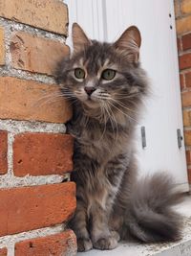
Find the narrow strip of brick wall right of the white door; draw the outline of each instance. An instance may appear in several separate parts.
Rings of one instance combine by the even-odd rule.
[[[191,184],[191,0],[175,0],[184,139]]]

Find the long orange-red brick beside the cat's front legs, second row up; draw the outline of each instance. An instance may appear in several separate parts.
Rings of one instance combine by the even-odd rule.
[[[61,184],[0,190],[0,236],[68,221],[75,209],[75,185]]]

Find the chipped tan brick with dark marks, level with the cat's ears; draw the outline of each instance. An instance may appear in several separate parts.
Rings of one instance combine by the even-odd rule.
[[[52,39],[18,32],[11,38],[11,65],[16,69],[53,75],[57,62],[69,55],[69,47]]]

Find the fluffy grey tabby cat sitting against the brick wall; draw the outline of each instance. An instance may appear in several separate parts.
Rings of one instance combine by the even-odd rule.
[[[137,178],[135,131],[149,92],[138,28],[101,43],[74,23],[73,43],[56,79],[74,106],[67,131],[74,136],[76,211],[70,227],[78,251],[113,249],[130,237],[143,243],[179,240],[181,217],[172,206],[180,193],[171,177]]]

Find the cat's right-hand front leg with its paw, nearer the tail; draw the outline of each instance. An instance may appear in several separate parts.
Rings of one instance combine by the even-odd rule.
[[[91,238],[93,246],[98,249],[113,249],[117,247],[119,235],[111,231],[109,220],[113,211],[114,202],[125,172],[126,157],[120,155],[110,161],[105,167],[103,176],[103,187],[97,187],[95,193],[94,207],[92,208],[92,230]]]

